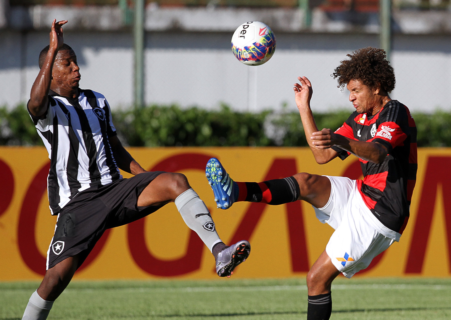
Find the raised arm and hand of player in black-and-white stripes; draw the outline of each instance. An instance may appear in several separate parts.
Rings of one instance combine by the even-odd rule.
[[[50,48],[42,64],[40,59],[41,70],[31,88],[28,110],[37,117],[45,114],[48,108],[47,95],[49,94],[52,80],[52,68],[56,54],[64,43],[62,26],[65,23],[67,23],[67,20],[58,22],[56,22],[56,19],[53,20],[50,32]]]

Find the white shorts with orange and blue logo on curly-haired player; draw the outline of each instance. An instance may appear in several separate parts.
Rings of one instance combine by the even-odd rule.
[[[319,221],[335,229],[326,246],[327,255],[337,270],[351,278],[401,235],[384,226],[368,209],[356,180],[325,177],[331,181],[331,196],[326,206],[313,208]]]

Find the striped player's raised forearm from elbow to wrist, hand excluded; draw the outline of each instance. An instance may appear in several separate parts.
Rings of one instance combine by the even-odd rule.
[[[41,116],[47,110],[48,94],[52,80],[52,68],[56,54],[57,50],[49,49],[44,64],[31,88],[28,109],[35,116]]]

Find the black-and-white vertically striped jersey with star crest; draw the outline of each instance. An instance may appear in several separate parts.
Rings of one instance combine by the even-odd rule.
[[[78,192],[122,178],[110,148],[109,137],[116,135],[110,106],[100,93],[82,89],[78,93],[71,99],[51,91],[46,114],[30,114],[49,153],[52,215]]]

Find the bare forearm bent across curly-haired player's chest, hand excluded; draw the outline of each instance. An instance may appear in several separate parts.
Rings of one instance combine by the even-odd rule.
[[[360,159],[379,164],[387,156],[387,148],[380,143],[357,141],[340,135],[336,136],[338,138],[336,142],[334,141],[336,146],[358,156]]]

